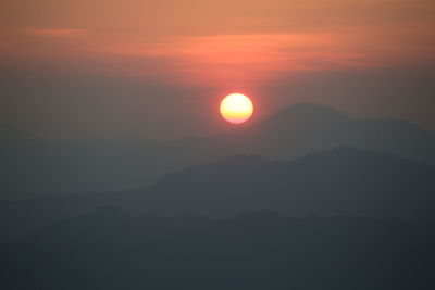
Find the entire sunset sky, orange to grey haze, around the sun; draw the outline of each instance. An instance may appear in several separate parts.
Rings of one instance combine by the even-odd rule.
[[[174,139],[309,101],[435,128],[433,0],[9,0],[0,122],[47,138]]]

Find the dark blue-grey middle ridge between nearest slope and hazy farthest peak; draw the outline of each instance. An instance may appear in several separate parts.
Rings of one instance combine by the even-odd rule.
[[[235,155],[167,175],[144,190],[0,203],[2,240],[99,206],[133,215],[228,217],[273,211],[294,217],[356,215],[434,220],[435,168],[352,148],[289,161]]]

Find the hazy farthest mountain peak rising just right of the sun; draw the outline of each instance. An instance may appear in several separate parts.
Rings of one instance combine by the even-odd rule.
[[[286,106],[215,142],[228,142],[236,153],[290,160],[312,151],[356,147],[435,164],[435,134],[402,121],[358,119],[328,106]]]

